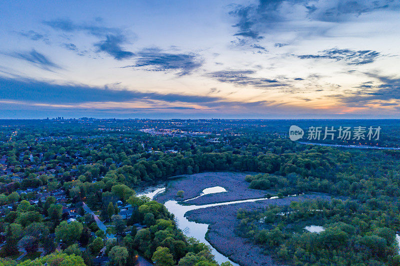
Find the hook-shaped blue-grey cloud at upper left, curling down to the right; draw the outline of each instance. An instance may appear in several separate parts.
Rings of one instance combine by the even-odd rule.
[[[94,44],[98,52],[105,52],[116,60],[130,58],[133,52],[124,50],[121,45],[127,42],[125,33],[120,28],[97,26],[93,24],[77,24],[69,19],[43,21],[43,24],[64,32],[83,31],[101,40]]]

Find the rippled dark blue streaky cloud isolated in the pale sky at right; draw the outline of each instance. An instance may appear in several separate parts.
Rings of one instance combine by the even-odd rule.
[[[372,50],[350,50],[350,49],[329,49],[319,51],[318,54],[304,54],[298,55],[300,59],[312,59],[312,58],[326,58],[333,59],[336,61],[344,61],[348,65],[362,65],[372,63],[380,53]]]

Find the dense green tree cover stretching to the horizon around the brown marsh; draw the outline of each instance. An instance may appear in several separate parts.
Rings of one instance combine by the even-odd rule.
[[[237,234],[278,262],[400,265],[394,240],[400,231],[400,151],[303,145],[287,140],[277,126],[254,130],[253,122],[229,128],[210,122],[212,130],[201,122],[208,133],[179,136],[137,131],[174,121],[43,123],[1,127],[0,265],[59,260],[90,266],[99,254],[118,266],[137,256],[160,266],[217,265],[207,246],[177,229],[162,204],[135,196],[140,186],[205,171],[258,172],[246,176],[249,188],[279,197],[334,198],[237,214]],[[185,130],[193,127],[188,123]],[[106,232],[83,202],[109,226]],[[308,225],[325,230],[305,232]]]

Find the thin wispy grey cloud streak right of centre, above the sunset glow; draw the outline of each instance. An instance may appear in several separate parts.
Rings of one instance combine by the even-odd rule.
[[[222,70],[208,73],[207,76],[215,78],[220,82],[233,83],[241,86],[253,86],[256,88],[270,88],[286,86],[277,79],[251,77],[249,75],[255,74],[253,70]]]

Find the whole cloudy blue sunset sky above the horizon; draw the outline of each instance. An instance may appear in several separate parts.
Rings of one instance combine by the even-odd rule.
[[[0,119],[399,118],[400,0],[0,1]]]

